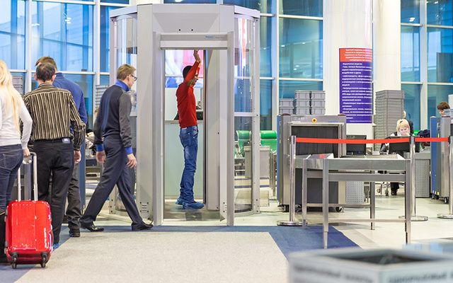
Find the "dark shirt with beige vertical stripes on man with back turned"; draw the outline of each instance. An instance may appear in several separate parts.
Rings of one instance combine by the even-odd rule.
[[[85,124],[80,120],[69,91],[42,83],[35,91],[27,93],[23,101],[33,118],[33,141],[74,138],[74,150],[80,150],[85,138]]]

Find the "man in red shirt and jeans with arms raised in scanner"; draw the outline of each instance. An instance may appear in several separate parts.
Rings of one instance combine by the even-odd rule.
[[[201,202],[195,202],[193,198],[193,180],[197,169],[198,151],[197,111],[193,86],[197,82],[197,72],[201,62],[198,50],[193,50],[193,57],[195,57],[195,63],[183,69],[184,81],[176,90],[179,138],[184,148],[184,170],[180,183],[180,196],[176,204],[182,205],[184,209],[201,209],[205,206]]]

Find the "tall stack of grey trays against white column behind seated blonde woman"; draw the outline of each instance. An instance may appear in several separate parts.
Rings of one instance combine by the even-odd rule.
[[[377,139],[384,139],[396,132],[396,122],[403,117],[404,91],[377,91],[375,107],[374,136]]]

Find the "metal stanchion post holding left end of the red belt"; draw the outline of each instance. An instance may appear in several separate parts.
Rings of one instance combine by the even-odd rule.
[[[278,226],[302,226],[296,221],[296,136],[289,139],[289,221],[277,221]]]

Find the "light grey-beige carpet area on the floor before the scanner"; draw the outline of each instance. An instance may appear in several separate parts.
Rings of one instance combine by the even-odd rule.
[[[287,260],[269,233],[83,233],[45,270],[29,268],[0,269],[0,281],[287,282]]]

